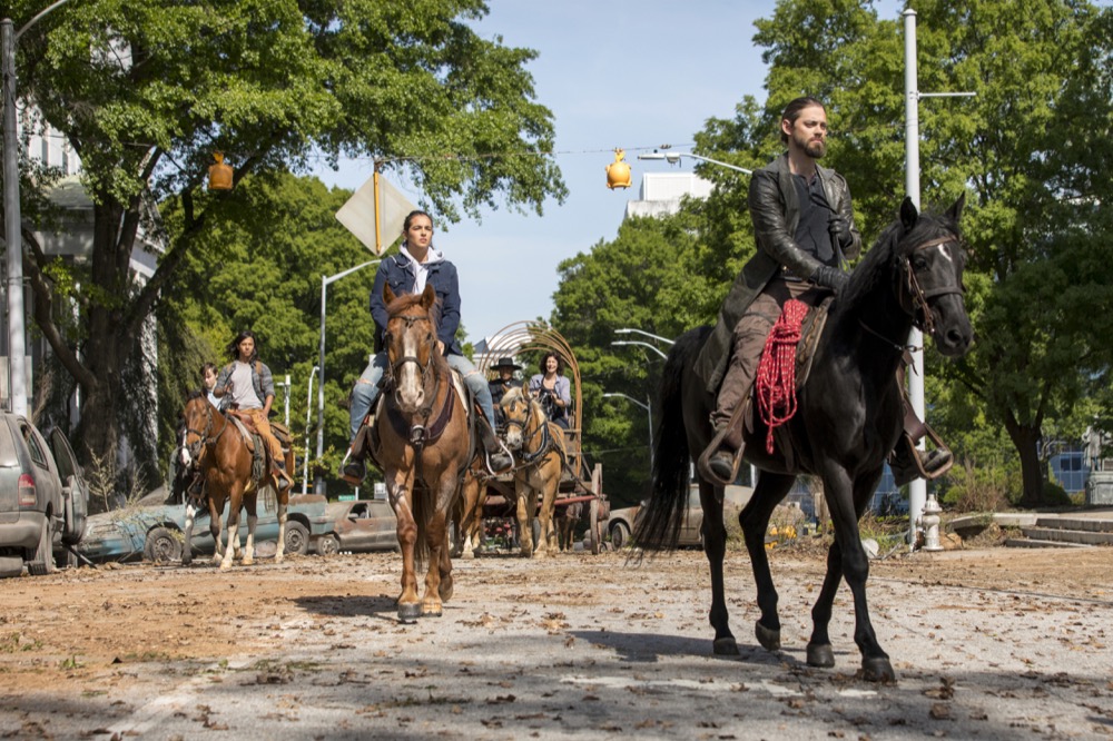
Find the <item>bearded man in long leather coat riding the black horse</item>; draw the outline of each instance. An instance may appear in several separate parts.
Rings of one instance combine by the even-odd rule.
[[[841,292],[849,280],[846,260],[861,251],[846,179],[818,164],[827,152],[824,105],[808,97],[788,103],[780,117],[780,139],[788,151],[750,180],[757,250],[735,279],[696,359],[707,391],[718,393],[711,414],[716,434],[699,458],[699,470],[723,485],[737,475],[741,425],[758,360],[785,303],[795,298],[815,307],[831,292]],[[914,477],[912,454],[909,446],[897,445],[892,465],[898,484]],[[943,457],[933,451],[923,462],[925,470],[939,468],[946,463]]]

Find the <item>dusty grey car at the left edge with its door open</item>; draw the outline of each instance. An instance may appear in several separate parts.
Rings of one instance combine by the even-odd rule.
[[[48,442],[49,441],[49,442]],[[89,491],[60,429],[43,436],[24,417],[0,412],[0,576],[50,573],[76,562]]]

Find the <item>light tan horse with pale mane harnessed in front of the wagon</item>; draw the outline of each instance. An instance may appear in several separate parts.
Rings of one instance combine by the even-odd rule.
[[[541,404],[522,388],[511,388],[499,402],[505,419],[503,441],[514,454],[514,496],[518,500],[518,536],[523,556],[556,552],[553,502],[568,454],[564,431],[549,421]],[[541,536],[533,544],[533,513],[541,501]]]

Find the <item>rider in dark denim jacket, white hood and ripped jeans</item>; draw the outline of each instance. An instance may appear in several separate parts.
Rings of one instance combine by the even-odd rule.
[[[375,286],[371,292],[371,314],[375,319],[375,356],[361,374],[352,389],[352,406],[349,423],[352,442],[355,442],[361,426],[367,415],[375,408],[378,401],[380,382],[386,370],[386,350],[383,349],[383,334],[390,315],[383,303],[383,287],[391,286],[396,296],[420,294],[425,286],[431,285],[436,290],[436,337],[437,347],[444,353],[445,360],[463,377],[471,389],[485,419],[479,419],[480,441],[487,453],[492,470],[509,468],[512,461],[502,449],[494,435],[494,404],[491,401],[491,389],[486,379],[464,356],[464,350],[456,339],[460,328],[460,286],[456,277],[456,266],[444,259],[439,249],[433,248],[433,219],[425,211],[411,211],[402,225],[402,247],[398,254],[387,257],[378,264],[375,275]],[[362,446],[354,446],[351,457],[344,465],[343,477],[349,484],[357,486],[366,475]]]

